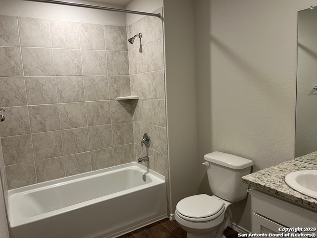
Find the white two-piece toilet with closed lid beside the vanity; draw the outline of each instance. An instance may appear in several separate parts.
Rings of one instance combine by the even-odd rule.
[[[175,220],[187,232],[187,238],[221,238],[230,219],[226,209],[247,195],[248,184],[241,177],[250,174],[252,160],[217,151],[204,159],[214,195],[186,197],[176,205]]]

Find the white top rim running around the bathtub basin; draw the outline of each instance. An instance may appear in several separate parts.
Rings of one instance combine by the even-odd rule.
[[[110,173],[115,173],[115,172],[119,172],[122,170],[133,169],[133,168],[134,169],[137,168],[137,170],[141,171],[141,173],[146,173],[146,175],[152,179],[152,182],[142,184],[142,185],[139,185],[136,187],[128,188],[128,189],[125,189],[125,190],[122,190],[119,192],[115,192],[112,194],[108,194],[108,195],[105,195],[102,197],[94,198],[94,199],[84,201],[81,203],[73,204],[73,205],[70,205],[67,207],[59,208],[59,209],[56,209],[56,210],[53,210],[53,211],[50,211],[47,213],[39,214],[39,215],[36,215],[33,217],[23,217],[19,214],[19,212],[17,211],[16,208],[15,208],[15,211],[13,211],[11,208],[11,197],[18,198],[19,196],[22,196],[23,194],[28,194],[32,191],[42,190],[43,188],[49,189],[49,188],[53,188],[53,187],[60,186],[63,184],[84,180],[85,178],[88,178],[88,177],[93,178],[93,177],[102,176],[103,174],[107,174],[107,173],[110,174]],[[138,164],[137,162],[130,162],[127,164],[117,165],[117,166],[113,166],[113,167],[109,167],[109,168],[105,168],[105,169],[101,169],[101,170],[97,170],[97,171],[90,171],[90,172],[79,174],[79,175],[64,177],[64,178],[60,178],[60,179],[54,179],[54,180],[50,180],[50,181],[31,184],[31,185],[24,186],[24,187],[10,189],[8,191],[8,207],[9,207],[8,223],[9,223],[9,227],[14,228],[14,227],[18,227],[21,225],[26,225],[26,224],[29,224],[32,222],[46,219],[46,218],[51,217],[53,215],[58,215],[58,214],[70,212],[70,211],[73,211],[75,209],[79,209],[79,208],[82,208],[82,207],[85,207],[88,205],[93,205],[93,204],[102,202],[106,199],[113,199],[117,196],[124,195],[124,194],[129,193],[129,192],[140,191],[142,189],[146,189],[147,187],[159,185],[162,183],[165,183],[164,176],[160,175],[159,173],[157,173],[151,169],[148,169],[147,167],[145,167],[143,165]],[[14,222],[12,221],[12,217],[13,217],[12,215],[16,216],[16,218],[14,219]]]

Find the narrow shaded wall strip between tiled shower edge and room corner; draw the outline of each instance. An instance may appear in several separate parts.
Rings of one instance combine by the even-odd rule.
[[[192,0],[164,0],[171,213],[197,194],[195,25]]]

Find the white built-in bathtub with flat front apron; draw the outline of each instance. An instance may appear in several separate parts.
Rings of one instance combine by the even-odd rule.
[[[132,162],[9,190],[12,238],[112,238],[159,221],[165,178],[148,172]]]

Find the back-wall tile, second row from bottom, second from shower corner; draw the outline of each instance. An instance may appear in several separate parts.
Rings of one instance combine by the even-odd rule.
[[[111,124],[89,126],[88,134],[91,150],[113,146]]]

